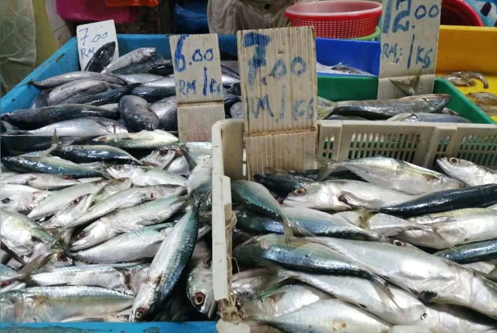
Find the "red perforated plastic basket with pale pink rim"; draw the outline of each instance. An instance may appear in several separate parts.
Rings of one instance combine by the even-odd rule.
[[[382,4],[365,0],[297,3],[285,10],[292,26],[311,25],[316,37],[357,38],[375,32]]]

